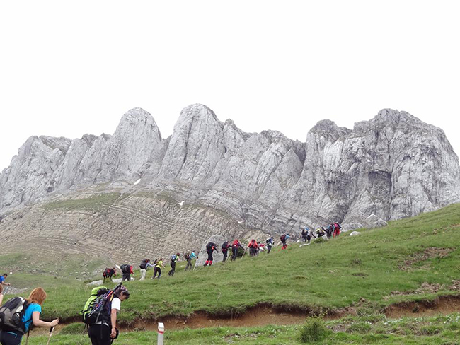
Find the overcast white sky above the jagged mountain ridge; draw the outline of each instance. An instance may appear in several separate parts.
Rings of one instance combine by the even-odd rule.
[[[0,171],[31,135],[161,134],[203,103],[243,131],[305,141],[382,108],[460,153],[459,1],[1,1]]]

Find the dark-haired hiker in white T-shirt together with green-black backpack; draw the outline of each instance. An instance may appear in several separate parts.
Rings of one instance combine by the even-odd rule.
[[[130,292],[121,283],[111,291],[105,286],[93,288],[83,312],[92,345],[110,345],[118,337],[117,315],[128,298]]]

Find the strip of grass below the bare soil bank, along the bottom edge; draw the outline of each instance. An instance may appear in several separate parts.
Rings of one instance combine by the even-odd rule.
[[[326,339],[314,344],[459,344],[460,315],[403,318],[387,320],[384,315],[367,317],[347,317],[342,320],[326,322]],[[72,327],[75,328],[75,327]],[[165,333],[168,345],[204,345],[204,344],[255,344],[280,345],[301,344],[299,341],[301,326],[265,326],[253,328],[219,327],[212,329],[186,329]],[[62,332],[64,333],[64,332]],[[31,345],[45,344],[47,337],[33,337]],[[86,335],[53,336],[52,344],[88,344]],[[114,344],[146,345],[156,344],[156,332],[123,332]]]

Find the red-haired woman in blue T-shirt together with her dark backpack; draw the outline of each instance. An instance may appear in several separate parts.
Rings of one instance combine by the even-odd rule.
[[[45,290],[34,288],[28,298],[11,298],[0,308],[1,345],[21,344],[23,335],[29,332],[32,325],[35,327],[55,327],[59,323],[59,319],[52,320],[52,322],[40,320],[42,304],[45,299]],[[20,318],[17,319],[13,315],[19,315]]]

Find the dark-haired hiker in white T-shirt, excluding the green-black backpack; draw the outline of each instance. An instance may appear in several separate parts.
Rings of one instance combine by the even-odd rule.
[[[92,345],[110,345],[113,339],[118,337],[117,314],[120,312],[122,301],[130,298],[130,292],[125,286],[120,286],[115,288],[113,296],[115,297],[109,302],[110,315],[101,313],[106,316],[88,327],[88,337]]]

